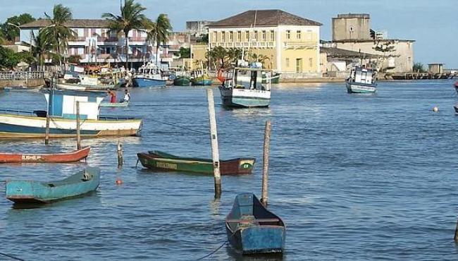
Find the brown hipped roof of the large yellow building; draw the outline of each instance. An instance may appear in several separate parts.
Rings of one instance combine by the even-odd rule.
[[[230,18],[225,18],[211,24],[210,28],[221,27],[250,27],[250,26],[278,26],[278,25],[313,25],[321,26],[314,20],[295,16],[291,13],[274,10],[249,10]]]

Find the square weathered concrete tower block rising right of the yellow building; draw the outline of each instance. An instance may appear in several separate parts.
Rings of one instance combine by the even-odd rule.
[[[345,14],[333,18],[333,41],[369,40],[371,20],[365,14]]]

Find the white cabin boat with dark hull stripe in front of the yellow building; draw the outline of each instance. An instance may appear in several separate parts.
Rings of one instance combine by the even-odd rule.
[[[266,73],[266,83],[262,74]],[[225,107],[268,107],[271,103],[271,71],[261,68],[233,68],[219,86]],[[220,76],[218,76],[221,78]]]

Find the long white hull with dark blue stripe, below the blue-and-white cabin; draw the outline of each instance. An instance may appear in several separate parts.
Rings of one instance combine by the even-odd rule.
[[[142,119],[100,117],[99,120],[85,120],[80,125],[83,138],[101,136],[140,135]],[[0,114],[0,139],[44,138],[46,117]],[[49,121],[50,138],[76,137],[74,119],[52,118]]]

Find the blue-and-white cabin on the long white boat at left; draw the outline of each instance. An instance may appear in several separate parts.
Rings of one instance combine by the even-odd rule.
[[[80,102],[80,119],[97,120],[99,105],[105,96],[106,92],[44,91],[49,115],[63,119],[76,119],[76,102]]]

